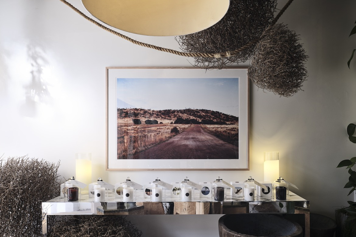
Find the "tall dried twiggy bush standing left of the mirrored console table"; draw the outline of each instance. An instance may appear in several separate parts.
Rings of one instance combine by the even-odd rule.
[[[57,164],[0,157],[0,236],[42,236],[42,201],[59,196]]]

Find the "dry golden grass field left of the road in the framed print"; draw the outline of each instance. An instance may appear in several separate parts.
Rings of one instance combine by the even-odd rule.
[[[127,159],[128,156],[147,150],[175,136],[171,129],[177,127],[181,133],[189,128],[188,124],[171,124],[172,120],[160,119],[162,124],[133,124],[131,118],[117,119],[117,159]]]

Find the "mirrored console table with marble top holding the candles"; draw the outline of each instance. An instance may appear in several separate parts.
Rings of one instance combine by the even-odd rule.
[[[197,191],[197,190],[196,190]],[[170,195],[170,194],[169,194]],[[179,198],[166,196],[162,202],[152,202],[143,198],[143,190],[137,190],[137,199],[134,202],[122,202],[115,198],[114,193],[109,193],[108,200],[94,202],[88,198],[88,192],[82,193],[79,201],[66,202],[57,197],[42,203],[42,230],[47,236],[47,215],[155,215],[155,214],[304,214],[305,236],[310,236],[309,201],[289,192],[285,201],[273,198],[255,196],[254,201],[246,201],[242,197],[232,199],[230,190],[227,190],[226,201],[214,201],[199,198],[195,192],[193,201],[180,201]]]

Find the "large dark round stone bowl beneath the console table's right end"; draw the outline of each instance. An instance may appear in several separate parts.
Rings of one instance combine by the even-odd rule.
[[[303,228],[277,215],[237,214],[219,219],[220,237],[303,237]]]

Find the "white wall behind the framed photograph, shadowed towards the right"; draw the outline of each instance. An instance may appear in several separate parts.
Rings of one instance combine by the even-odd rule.
[[[79,1],[71,1],[83,10]],[[280,8],[286,0],[279,1]],[[88,22],[59,0],[0,1],[0,154],[61,161],[59,173],[74,173],[77,152],[91,152],[93,179],[138,183],[263,178],[263,151],[279,151],[284,178],[310,200],[311,210],[333,216],[347,205],[347,172],[336,169],[355,156],[346,126],[356,122],[355,68],[346,62],[355,47],[356,3],[351,0],[294,1],[279,22],[300,34],[309,55],[303,90],[280,98],[251,86],[250,171],[105,171],[105,67],[190,66],[192,59],[133,45]],[[83,10],[84,11],[84,10]],[[134,39],[178,49],[173,37]],[[248,65],[246,62],[243,65]],[[47,90],[40,92],[45,86]],[[38,94],[31,95],[31,90]],[[294,190],[295,191],[295,190]],[[143,236],[167,221],[162,236],[217,236],[216,216],[130,217]],[[163,219],[164,218],[164,219]],[[196,228],[194,225],[197,225]],[[202,233],[200,230],[206,230]]]

